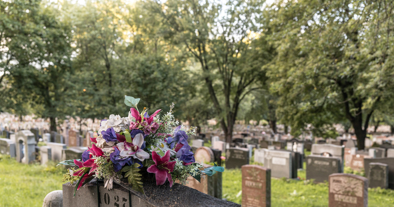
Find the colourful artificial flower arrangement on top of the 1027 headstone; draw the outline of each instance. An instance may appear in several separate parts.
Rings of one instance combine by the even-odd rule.
[[[126,177],[134,190],[144,193],[140,170],[154,173],[156,185],[163,185],[168,180],[170,187],[174,180],[186,184],[189,176],[200,181],[205,175],[224,171],[216,164],[204,169],[203,165],[195,163],[188,144],[195,127],[185,130],[178,126],[172,111],[174,104],[161,117],[158,115],[161,110],[149,116],[145,107],[139,112],[139,100],[125,96],[125,104],[131,107],[128,117],[112,114],[109,119],[101,121],[98,136],[90,138],[92,147],[82,153],[82,161],[74,159],[59,163],[75,166],[63,175],[63,182],[76,183],[74,196],[94,177],[104,179],[104,187],[108,190],[112,189],[114,181]]]

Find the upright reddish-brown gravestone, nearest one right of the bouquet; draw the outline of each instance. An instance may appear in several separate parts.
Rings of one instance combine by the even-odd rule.
[[[259,165],[242,166],[242,206],[271,206],[271,170]]]

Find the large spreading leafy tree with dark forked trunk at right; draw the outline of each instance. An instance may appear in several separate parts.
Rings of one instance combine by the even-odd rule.
[[[373,112],[393,95],[393,6],[384,0],[279,1],[265,24],[278,55],[269,76],[292,129],[348,119],[364,149]]]

